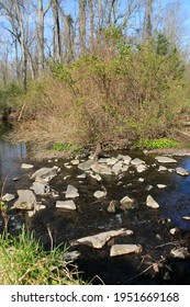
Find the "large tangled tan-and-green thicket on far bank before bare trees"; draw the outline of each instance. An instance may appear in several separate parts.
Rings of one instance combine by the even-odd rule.
[[[137,45],[105,30],[93,54],[49,64],[52,73],[20,98],[14,140],[67,150],[167,137],[187,107],[189,82],[178,50],[161,35]]]

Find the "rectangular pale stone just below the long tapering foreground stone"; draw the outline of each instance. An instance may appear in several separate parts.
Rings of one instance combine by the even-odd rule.
[[[113,245],[110,250],[111,257],[128,254],[128,253],[141,253],[143,250],[142,246],[138,245]]]

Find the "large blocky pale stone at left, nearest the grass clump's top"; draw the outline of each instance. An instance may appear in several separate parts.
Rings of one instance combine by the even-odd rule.
[[[13,204],[12,208],[32,211],[36,205],[36,198],[30,190],[18,190],[19,198]]]

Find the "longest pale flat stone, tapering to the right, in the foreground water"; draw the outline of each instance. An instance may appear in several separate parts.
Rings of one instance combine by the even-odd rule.
[[[111,238],[118,237],[121,235],[127,235],[127,230],[122,228],[119,230],[110,230],[105,232],[100,232],[94,236],[85,237],[77,240],[77,243],[86,245],[94,249],[101,249]]]

